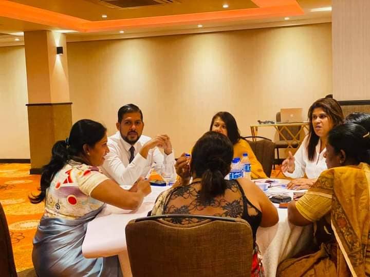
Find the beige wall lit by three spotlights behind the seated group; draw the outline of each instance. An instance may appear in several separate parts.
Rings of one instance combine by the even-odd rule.
[[[331,24],[69,43],[73,121],[92,118],[115,132],[116,113],[136,103],[144,134],[168,133],[187,151],[211,117],[230,111],[243,135],[280,108],[332,91]],[[273,137],[270,127],[260,134]]]

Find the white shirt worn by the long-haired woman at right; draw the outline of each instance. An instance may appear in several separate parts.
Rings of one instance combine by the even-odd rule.
[[[293,173],[289,173],[288,171],[283,172],[285,176],[290,178],[302,178],[306,173],[308,179],[317,179],[321,172],[327,169],[324,157],[326,148],[324,148],[320,153],[321,141],[319,140],[319,143],[316,145],[316,153],[313,161],[308,160],[307,146],[308,135],[306,135],[301,146],[294,154],[295,168]]]

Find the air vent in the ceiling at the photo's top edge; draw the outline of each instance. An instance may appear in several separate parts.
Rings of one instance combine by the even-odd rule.
[[[150,7],[155,5],[179,3],[178,0],[90,0],[90,2],[98,3],[109,8],[140,8]]]

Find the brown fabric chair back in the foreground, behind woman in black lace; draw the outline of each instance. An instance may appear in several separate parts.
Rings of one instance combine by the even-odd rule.
[[[188,225],[163,219],[204,219]],[[126,226],[134,277],[250,276],[251,227],[245,220],[191,214],[142,217]]]

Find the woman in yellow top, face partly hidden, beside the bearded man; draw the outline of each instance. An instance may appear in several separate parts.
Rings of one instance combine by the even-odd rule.
[[[241,136],[237,127],[236,120],[229,112],[217,112],[212,117],[210,131],[215,131],[226,135],[234,148],[234,158],[239,157],[242,159],[243,153],[248,153],[249,162],[251,163],[251,178],[267,178],[262,165],[258,162],[253,153],[252,148],[246,140]]]

